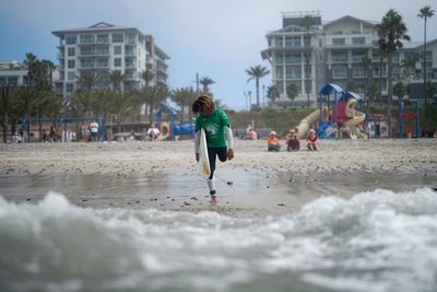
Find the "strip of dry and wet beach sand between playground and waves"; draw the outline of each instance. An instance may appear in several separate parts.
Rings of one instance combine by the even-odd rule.
[[[0,145],[0,195],[16,202],[36,202],[52,190],[82,207],[269,214],[321,196],[436,182],[437,139],[322,141],[319,152],[292,153],[237,140],[235,159],[217,164],[220,202],[212,207],[191,141]]]

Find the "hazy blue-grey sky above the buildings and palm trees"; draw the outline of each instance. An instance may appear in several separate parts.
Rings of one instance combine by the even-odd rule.
[[[245,70],[257,65],[270,70],[260,51],[267,48],[267,32],[281,28],[281,12],[320,11],[323,21],[352,15],[379,22],[393,8],[412,40],[421,42],[423,20],[417,13],[425,5],[437,12],[436,0],[0,0],[0,59],[22,61],[34,52],[58,63],[52,31],[98,22],[138,27],[155,36],[170,56],[173,89],[194,86],[198,72],[216,82],[211,86],[216,98],[243,109],[243,92],[255,92]],[[437,38],[437,15],[427,27],[427,39]],[[270,74],[261,81],[270,83]]]

